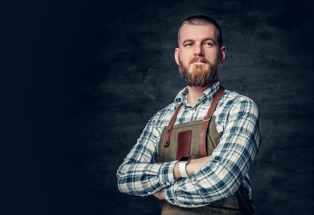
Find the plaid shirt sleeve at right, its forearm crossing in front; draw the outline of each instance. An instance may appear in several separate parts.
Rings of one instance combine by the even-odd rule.
[[[260,116],[250,98],[234,102],[220,142],[208,165],[164,189],[166,200],[181,207],[204,206],[234,194],[260,146]]]

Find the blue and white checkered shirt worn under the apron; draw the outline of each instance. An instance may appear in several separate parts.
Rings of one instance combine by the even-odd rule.
[[[235,193],[240,184],[249,190],[249,170],[261,144],[257,105],[249,97],[225,90],[213,113],[220,142],[208,165],[187,178],[174,178],[175,161],[157,162],[158,143],[175,110],[183,103],[175,124],[203,119],[220,82],[206,89],[192,107],[188,88],[147,122],[137,143],[117,170],[118,188],[131,195],[151,195],[164,190],[166,200],[182,207],[199,207]]]

